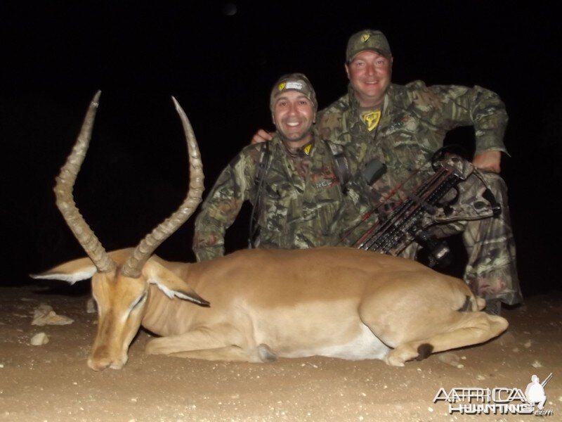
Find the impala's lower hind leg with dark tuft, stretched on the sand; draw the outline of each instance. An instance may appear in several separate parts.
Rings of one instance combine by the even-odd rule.
[[[484,312],[457,312],[455,319],[455,323],[442,327],[442,332],[437,329],[435,335],[423,340],[399,344],[386,355],[385,362],[404,366],[410,359],[425,359],[434,352],[483,343],[501,334],[508,326],[507,319]],[[439,328],[439,324],[436,325]]]

